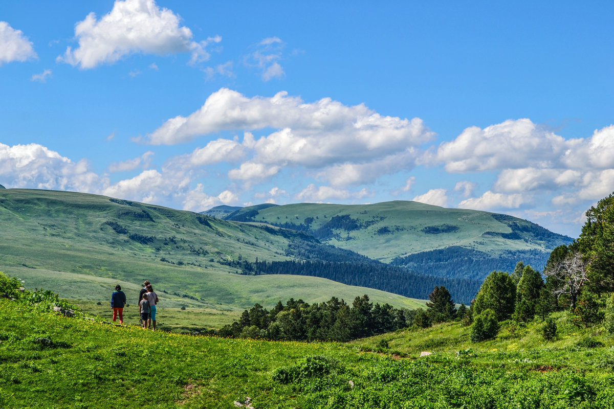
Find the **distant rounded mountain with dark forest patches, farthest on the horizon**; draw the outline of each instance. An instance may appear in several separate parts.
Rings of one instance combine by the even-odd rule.
[[[513,216],[406,201],[258,205],[227,220],[294,229],[416,272],[478,280],[495,269],[509,271],[517,261],[542,269],[554,247],[572,242]]]

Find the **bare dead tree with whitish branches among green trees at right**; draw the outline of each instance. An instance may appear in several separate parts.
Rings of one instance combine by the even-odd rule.
[[[582,259],[582,254],[575,252],[543,270],[546,277],[552,277],[558,283],[554,290],[557,300],[562,294],[569,294],[572,311],[575,308],[578,295],[580,295],[580,290],[589,281],[586,264]]]

